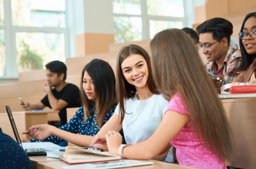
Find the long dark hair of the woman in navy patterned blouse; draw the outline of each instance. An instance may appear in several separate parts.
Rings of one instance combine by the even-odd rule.
[[[81,99],[84,105],[84,119],[89,116],[89,105],[92,103],[83,90],[85,71],[93,80],[96,95],[95,110],[98,112],[97,124],[102,126],[106,114],[117,104],[115,74],[108,62],[100,59],[93,59],[84,66],[81,76]]]

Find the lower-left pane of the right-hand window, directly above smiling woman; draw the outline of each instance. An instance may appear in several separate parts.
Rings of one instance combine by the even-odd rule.
[[[114,17],[115,41],[139,41],[142,39],[140,17]]]

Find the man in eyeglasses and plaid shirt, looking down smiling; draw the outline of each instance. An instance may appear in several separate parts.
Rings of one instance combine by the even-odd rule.
[[[219,77],[213,77],[212,80],[220,92],[223,81],[233,82],[240,73],[241,52],[230,45],[233,26],[224,18],[211,18],[196,27],[196,31],[199,34],[198,46],[209,62],[207,70]]]

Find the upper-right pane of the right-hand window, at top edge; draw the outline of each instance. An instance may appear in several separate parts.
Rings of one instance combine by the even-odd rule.
[[[148,15],[184,17],[183,0],[147,0]]]

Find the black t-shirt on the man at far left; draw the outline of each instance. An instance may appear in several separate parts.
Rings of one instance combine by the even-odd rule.
[[[67,107],[62,108],[59,112],[61,125],[66,124],[67,108],[81,107],[79,88],[74,84],[67,84],[60,92],[56,91],[56,89],[52,89],[52,94],[56,99],[63,99],[68,103]],[[52,108],[47,95],[41,100],[41,102],[45,107]]]

